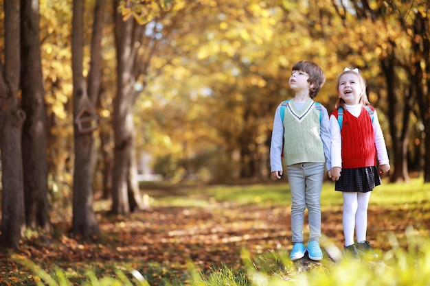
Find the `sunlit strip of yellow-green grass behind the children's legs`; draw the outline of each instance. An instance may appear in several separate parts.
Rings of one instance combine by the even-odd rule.
[[[270,184],[250,185],[216,185],[204,187],[189,186],[183,189],[172,189],[157,197],[157,190],[146,191],[152,198],[154,206],[210,206],[211,202],[234,202],[239,205],[288,205],[291,195],[286,180]],[[370,204],[396,206],[407,204],[428,204],[430,202],[430,184],[423,184],[422,178],[414,178],[408,183],[388,183],[383,181],[372,192]],[[321,191],[321,206],[339,206],[342,204],[342,194],[335,191],[335,184],[326,181]]]

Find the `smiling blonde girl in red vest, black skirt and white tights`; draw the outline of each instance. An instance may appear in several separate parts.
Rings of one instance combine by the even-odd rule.
[[[331,178],[336,181],[335,190],[343,196],[343,251],[351,260],[377,258],[366,240],[367,206],[371,191],[381,184],[379,174],[389,171],[387,148],[358,69],[347,68],[339,75],[337,93],[336,109],[330,116]]]

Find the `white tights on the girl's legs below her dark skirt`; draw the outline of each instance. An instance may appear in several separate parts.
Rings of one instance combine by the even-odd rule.
[[[354,229],[357,241],[366,240],[367,231],[367,206],[370,193],[342,192],[343,195],[343,236],[345,246],[354,244]]]

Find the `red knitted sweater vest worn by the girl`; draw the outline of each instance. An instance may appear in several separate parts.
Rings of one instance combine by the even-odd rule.
[[[333,111],[337,118],[337,110]],[[342,168],[352,169],[376,165],[376,146],[372,119],[362,107],[359,117],[343,108]]]

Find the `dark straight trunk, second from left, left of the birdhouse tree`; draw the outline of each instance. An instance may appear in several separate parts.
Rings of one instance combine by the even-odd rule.
[[[47,123],[43,90],[38,0],[21,1],[21,90],[25,111],[22,150],[25,222],[50,230],[47,200]]]

